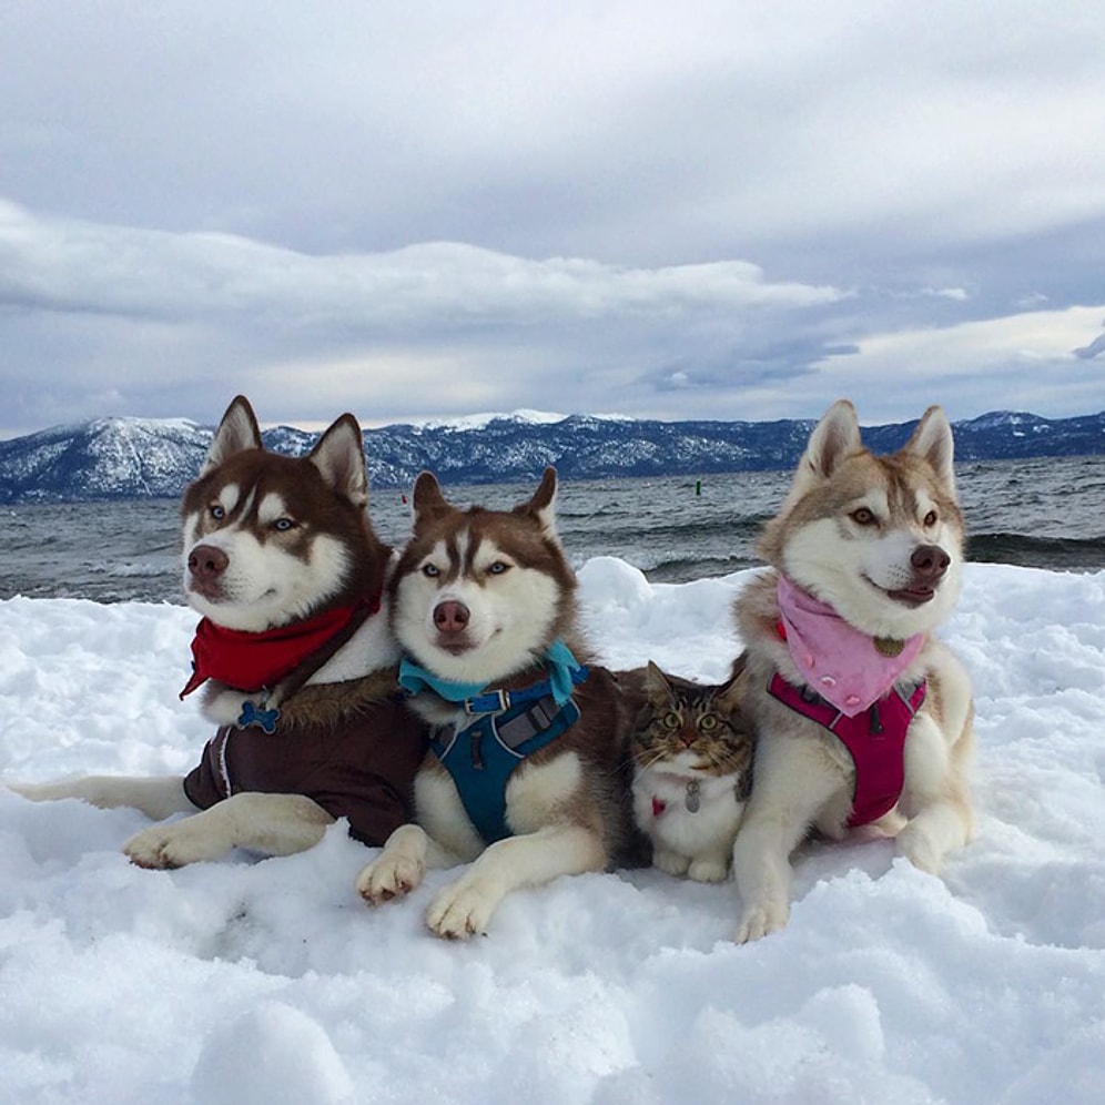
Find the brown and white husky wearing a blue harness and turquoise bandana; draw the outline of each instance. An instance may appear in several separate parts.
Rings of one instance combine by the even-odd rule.
[[[448,939],[486,932],[511,890],[604,870],[632,834],[630,714],[611,673],[585,666],[556,487],[548,468],[513,510],[462,511],[423,473],[392,579],[399,682],[434,729],[417,823],[393,833],[356,886],[377,905],[427,866],[475,861],[426,914]]]

